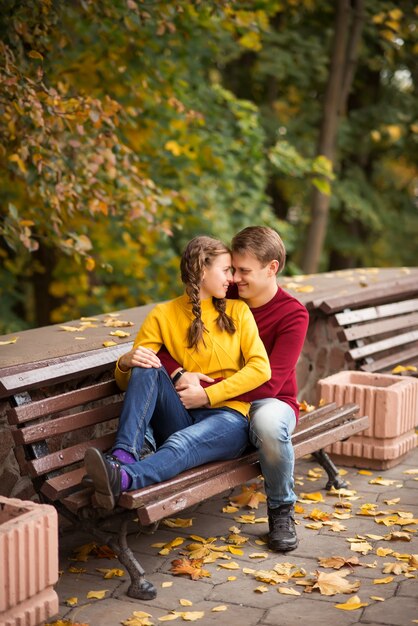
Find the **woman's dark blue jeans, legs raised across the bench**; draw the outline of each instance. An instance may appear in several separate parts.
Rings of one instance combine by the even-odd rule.
[[[140,460],[148,425],[157,451]],[[130,489],[167,480],[209,461],[234,459],[248,443],[248,420],[238,411],[228,407],[187,411],[163,367],[132,369],[113,446],[136,459],[123,466],[132,478]]]

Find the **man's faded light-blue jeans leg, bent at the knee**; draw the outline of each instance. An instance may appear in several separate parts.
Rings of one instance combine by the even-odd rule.
[[[256,400],[250,410],[250,441],[257,448],[269,507],[293,504],[295,453],[291,435],[296,426],[291,406],[267,398]]]

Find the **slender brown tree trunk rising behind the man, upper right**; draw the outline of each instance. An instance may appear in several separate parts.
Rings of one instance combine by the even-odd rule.
[[[364,0],[338,0],[335,16],[331,67],[324,99],[324,110],[317,147],[317,156],[323,155],[336,165],[336,144],[339,119],[346,110],[347,99],[354,78],[360,34],[363,26]],[[328,226],[330,196],[314,189],[311,199],[311,221],[302,260],[303,271],[318,271]]]

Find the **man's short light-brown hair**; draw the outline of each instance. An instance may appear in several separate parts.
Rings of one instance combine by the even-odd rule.
[[[235,235],[231,242],[232,252],[249,252],[265,266],[278,261],[281,272],[286,262],[286,248],[279,234],[268,226],[248,226]]]

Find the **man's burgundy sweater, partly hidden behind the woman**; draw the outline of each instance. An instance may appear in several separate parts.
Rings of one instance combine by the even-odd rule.
[[[298,418],[296,363],[305,341],[309,314],[299,300],[281,287],[269,302],[252,308],[251,312],[269,356],[271,378],[261,387],[243,393],[236,399],[253,402],[264,398],[278,398],[289,404]],[[172,359],[164,347],[158,356],[169,373],[179,367],[179,363]],[[202,386],[215,383],[202,382]]]

